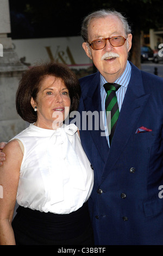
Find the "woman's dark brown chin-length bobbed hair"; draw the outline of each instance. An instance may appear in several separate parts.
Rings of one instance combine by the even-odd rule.
[[[70,95],[70,112],[76,111],[78,108],[80,85],[74,72],[68,66],[61,63],[51,62],[36,65],[24,72],[16,93],[17,113],[29,123],[35,123],[37,120],[37,112],[34,111],[30,104],[31,97],[36,101],[41,83],[46,76],[61,78]]]

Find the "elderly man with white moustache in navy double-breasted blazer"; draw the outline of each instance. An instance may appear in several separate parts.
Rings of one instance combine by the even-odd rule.
[[[80,79],[79,112],[104,113],[103,126],[80,131],[95,245],[163,245],[163,80],[128,62],[132,35],[117,11],[85,17],[82,36],[98,72]]]

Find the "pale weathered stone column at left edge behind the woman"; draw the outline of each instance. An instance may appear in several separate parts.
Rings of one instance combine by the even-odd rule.
[[[15,95],[22,72],[27,69],[17,57],[10,33],[9,1],[0,1],[0,142],[9,141],[26,128],[16,112]]]

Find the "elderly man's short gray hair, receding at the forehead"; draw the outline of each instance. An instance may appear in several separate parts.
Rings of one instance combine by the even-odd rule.
[[[126,33],[126,36],[131,33],[131,28],[128,24],[128,21],[127,21],[126,17],[124,17],[121,13],[118,13],[118,11],[109,10],[109,9],[102,9],[102,10],[94,11],[93,13],[87,15],[84,18],[84,20],[82,22],[81,35],[82,35],[85,42],[88,42],[87,28],[89,26],[90,21],[92,19],[104,18],[108,15],[114,15],[114,16],[118,17],[121,20],[121,22],[123,24],[124,32]]]

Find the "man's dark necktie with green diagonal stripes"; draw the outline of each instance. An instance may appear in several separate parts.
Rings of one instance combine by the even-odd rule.
[[[105,111],[106,111],[106,121],[108,125],[110,144],[111,144],[112,137],[114,135],[116,125],[117,125],[117,120],[120,114],[118,103],[117,103],[117,96],[116,96],[116,91],[119,88],[120,88],[120,84],[117,84],[117,83],[104,84],[104,89],[107,93],[106,99],[105,99]]]

